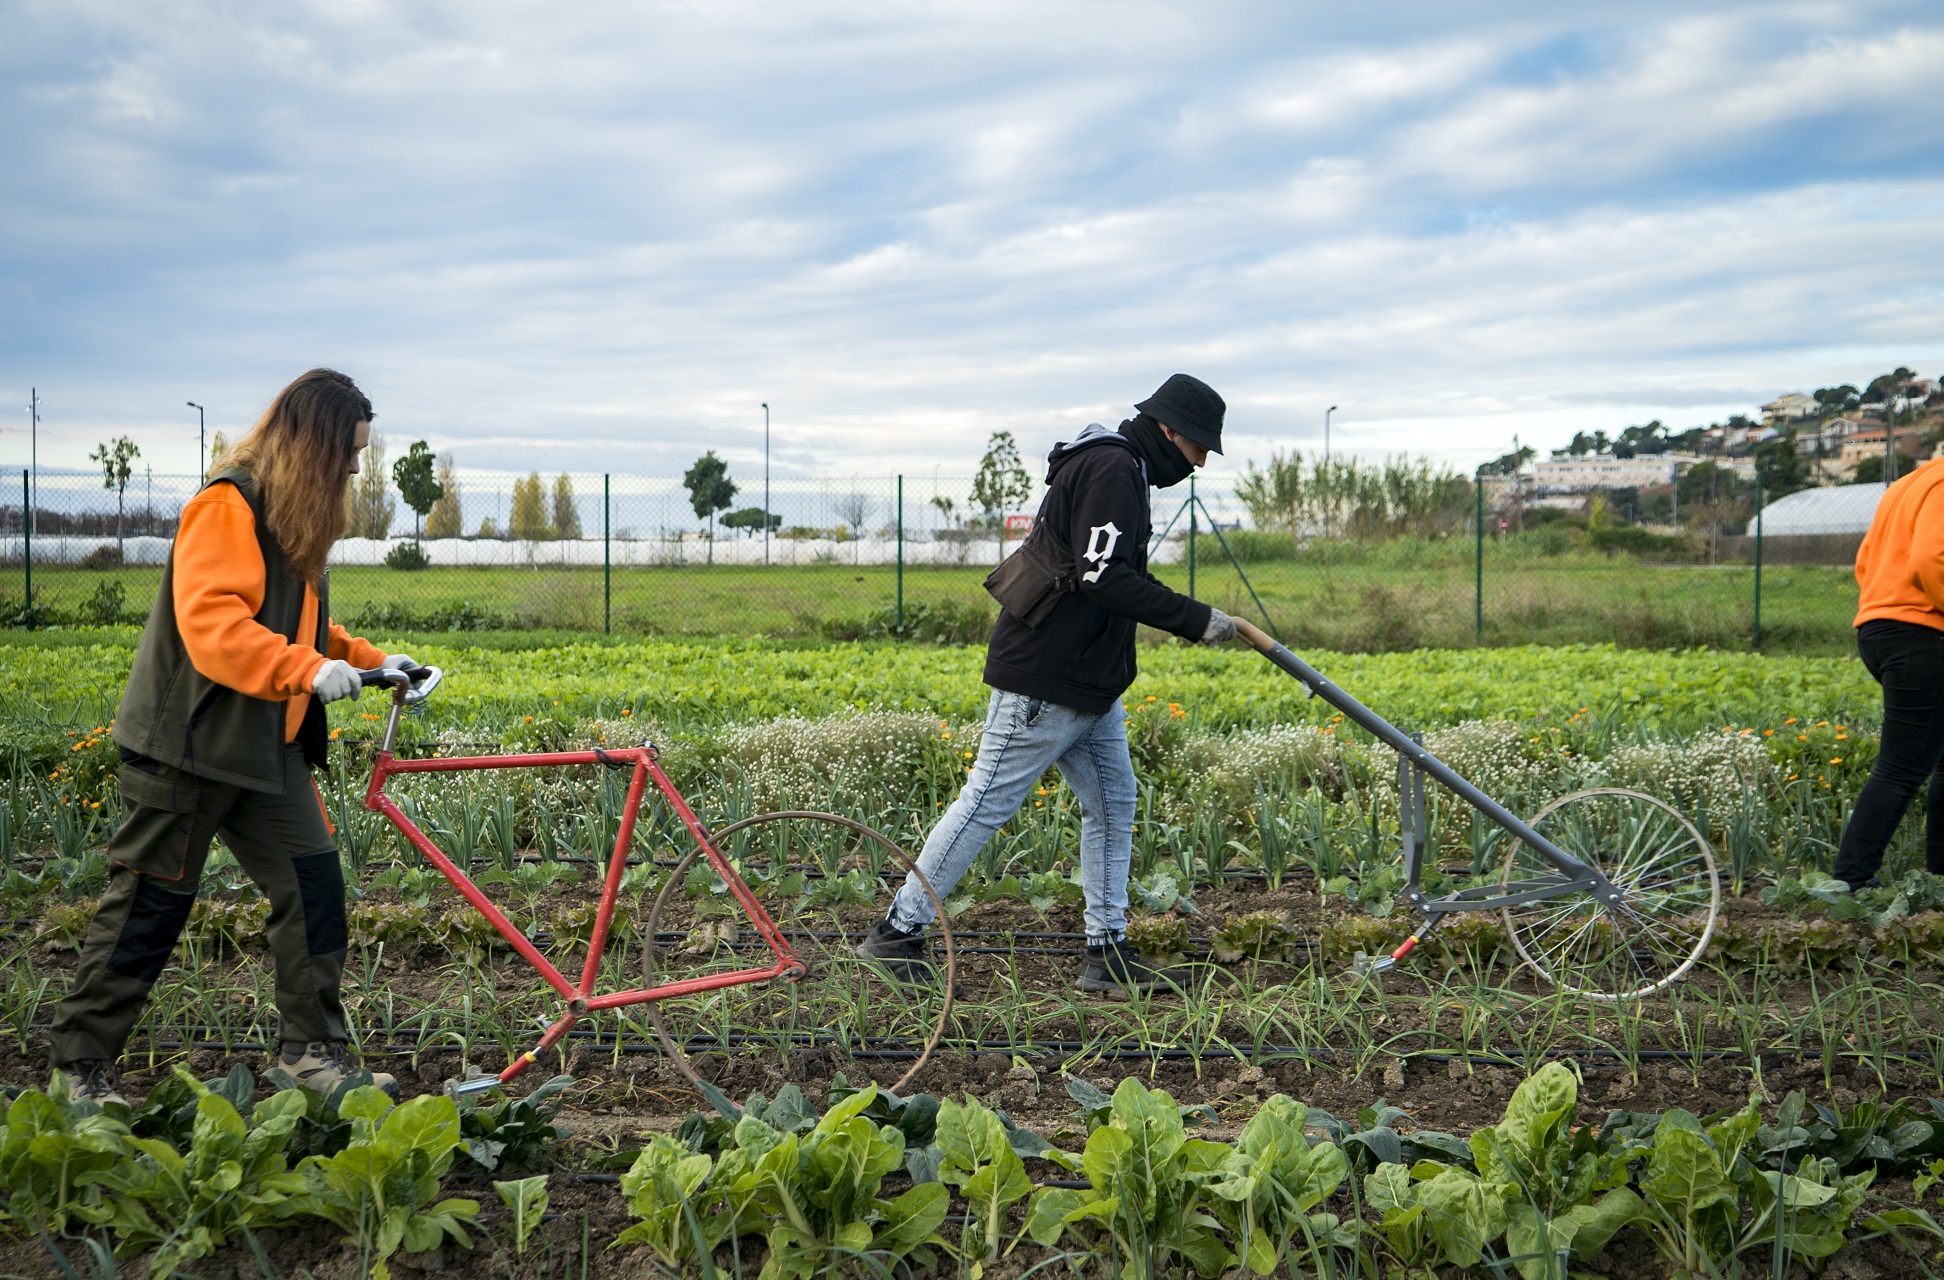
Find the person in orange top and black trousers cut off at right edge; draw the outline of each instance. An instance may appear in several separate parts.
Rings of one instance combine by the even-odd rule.
[[[1925,866],[1944,875],[1944,465],[1884,490],[1857,549],[1857,652],[1884,687],[1884,735],[1831,870],[1851,889],[1876,885],[1925,778]]]

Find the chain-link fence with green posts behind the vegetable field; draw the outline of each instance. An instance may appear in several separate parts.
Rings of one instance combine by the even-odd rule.
[[[713,519],[675,477],[447,473],[422,519],[391,490],[354,498],[330,558],[332,613],[400,630],[902,636],[980,642],[980,584],[1019,545],[970,477],[737,477]],[[0,490],[0,619],[19,626],[148,615],[194,477],[21,471]],[[1155,494],[1155,574],[1291,644],[1339,650],[1617,642],[1845,652],[1851,570],[1880,484],[1812,488],[1746,527],[1645,527],[1518,508],[1491,490],[1448,533],[1326,537],[1256,529],[1232,486]],[[10,498],[10,500],[6,500]],[[117,502],[119,500],[119,502]],[[364,508],[358,504],[364,502]],[[33,519],[25,512],[33,512]],[[766,516],[768,514],[768,516]],[[414,525],[424,566],[410,551]],[[1194,537],[1190,537],[1194,529]],[[31,556],[29,556],[31,545]]]

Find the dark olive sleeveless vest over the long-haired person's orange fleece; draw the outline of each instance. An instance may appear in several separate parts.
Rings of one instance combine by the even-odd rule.
[[[235,484],[257,517],[257,547],[262,551],[262,609],[257,621],[292,644],[311,644],[329,654],[330,597],[329,576],[317,589],[317,634],[299,640],[303,619],[303,580],[290,572],[284,549],[262,517],[257,480],[243,467],[226,467],[210,484]],[[128,671],[121,710],[115,714],[115,741],[163,764],[198,778],[227,782],[251,792],[284,790],[284,702],[270,702],[218,685],[189,661],[183,632],[175,624],[175,549],[161,570],[161,589],[148,613],[142,646]],[[311,764],[325,763],[325,712],[317,698],[297,731]]]

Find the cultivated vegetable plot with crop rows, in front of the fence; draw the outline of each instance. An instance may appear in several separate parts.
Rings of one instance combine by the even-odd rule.
[[[980,646],[564,630],[373,628],[371,638],[447,671],[428,714],[404,722],[406,755],[612,747],[649,737],[713,831],[752,813],[822,809],[906,848],[918,846],[962,786],[988,693]],[[103,848],[121,819],[107,726],[136,642],[134,626],[0,636],[0,905],[17,930],[0,977],[8,1085],[31,1087],[49,1078],[47,1025],[74,978],[76,940],[107,883]],[[1542,1091],[1549,1119],[1540,1138],[1551,1144],[1547,1150],[1557,1148],[1545,1159],[1559,1169],[1567,1161],[1580,1161],[1573,1169],[1606,1161],[1598,1187],[1573,1175],[1579,1181],[1557,1192],[1559,1222],[1580,1229],[1594,1218],[1596,1198],[1610,1192],[1612,1200],[1598,1202],[1633,1214],[1614,1237],[1617,1253],[1582,1251],[1586,1257],[1567,1274],[1664,1274],[1666,1266],[1654,1270],[1650,1259],[1689,1249],[1689,1235],[1666,1233],[1670,1222],[1687,1222],[1678,1218],[1685,1212],[1678,1192],[1684,1183],[1641,1134],[1652,1124],[1662,1134],[1684,1126],[1691,1140],[1682,1138],[1680,1150],[1699,1159],[1705,1142],[1695,1117],[1711,1119],[1718,1142],[1755,1134],[1761,1120],[1775,1122],[1748,1140],[1748,1169],[1736,1165],[1738,1183],[1726,1173],[1711,1183],[1718,1185],[1709,1202],[1711,1235],[1689,1249],[1695,1257],[1732,1261],[1746,1241],[1765,1249],[1773,1218],[1763,1218],[1763,1206],[1777,1198],[1763,1198],[1763,1189],[1783,1171],[1796,1179],[1796,1235],[1788,1239],[1798,1257],[1810,1257],[1812,1247],[1843,1247],[1845,1231],[1851,1257],[1862,1249],[1855,1241],[1890,1231],[1903,1233],[1911,1249],[1934,1249],[1925,1243],[1928,1218],[1905,1216],[1888,1226],[1870,1218],[1907,1210],[1915,1198],[1907,1179],[1932,1159],[1944,1161],[1944,1107],[1923,1099],[1944,1078],[1944,877],[1919,870],[1921,807],[1890,850],[1892,887],[1835,905],[1814,897],[1827,893],[1818,873],[1827,868],[1876,753],[1878,691],[1860,663],[1847,656],[1612,644],[1308,650],[1308,658],[1384,716],[1421,729],[1427,747],[1518,813],[1586,788],[1635,788],[1689,817],[1713,842],[1722,877],[1722,914],[1705,957],[1664,994],[1594,1004],[1534,978],[1512,951],[1509,926],[1477,914],[1429,938],[1407,967],[1382,982],[1351,977],[1345,969],[1359,951],[1388,951],[1411,928],[1411,916],[1394,903],[1396,757],[1349,731],[1332,708],[1304,698],[1295,681],[1240,646],[1151,644],[1128,694],[1139,780],[1128,938],[1151,961],[1174,965],[1178,990],[1124,1002],[1073,990],[1075,949],[1085,938],[1077,932],[1079,823],[1075,798],[1056,774],[1042,780],[1036,798],[947,897],[955,945],[962,947],[949,1013],[939,1008],[937,986],[890,986],[850,951],[881,916],[898,868],[846,829],[780,819],[783,825],[768,827],[766,838],[745,835],[723,844],[766,910],[797,940],[811,973],[801,982],[729,986],[655,1006],[684,1041],[688,1060],[746,1103],[748,1117],[733,1126],[717,1117],[657,1050],[640,1010],[603,1010],[579,1023],[573,1039],[542,1052],[542,1068],[529,1076],[573,1078],[562,1095],[572,1136],[562,1140],[527,1117],[519,1156],[486,1169],[467,1163],[465,1152],[478,1157],[492,1156],[492,1148],[463,1138],[494,1132],[500,1142],[511,1130],[490,1126],[521,1113],[509,1101],[492,1101],[484,1115],[449,1111],[439,1082],[469,1064],[496,1070],[529,1049],[537,1021],[558,1017],[560,998],[364,807],[383,710],[377,696],[329,708],[336,747],[319,784],[354,885],[348,1013],[373,1066],[395,1072],[412,1097],[395,1113],[397,1126],[437,1124],[453,1134],[453,1152],[443,1163],[428,1163],[430,1175],[412,1185],[414,1202],[426,1206],[443,1194],[484,1200],[492,1210],[470,1226],[470,1253],[457,1243],[441,1255],[400,1245],[414,1261],[410,1274],[424,1270],[416,1259],[437,1257],[435,1266],[447,1270],[470,1262],[515,1280],[756,1276],[752,1255],[764,1247],[764,1229],[785,1220],[781,1208],[750,1218],[741,1245],[748,1253],[725,1245],[706,1264],[692,1249],[684,1253],[690,1237],[667,1229],[682,1222],[686,1192],[669,1191],[675,1183],[657,1183],[649,1173],[663,1167],[667,1175],[692,1159],[702,1161],[698,1169],[733,1167],[727,1161],[741,1157],[731,1152],[741,1152],[737,1144],[754,1152],[772,1142],[764,1122],[789,1128],[787,1142],[805,1150],[824,1142],[811,1132],[816,1113],[830,1115],[867,1082],[896,1080],[933,1025],[945,1027],[943,1043],[916,1085],[900,1087],[890,1103],[853,1101],[879,1109],[848,1140],[877,1142],[883,1150],[873,1148],[873,1159],[883,1169],[914,1173],[910,1189],[900,1181],[886,1187],[886,1196],[925,1198],[935,1214],[962,1204],[968,1224],[984,1212],[995,1233],[1003,1227],[1005,1239],[1023,1241],[1007,1261],[1015,1270],[988,1274],[1015,1274],[1026,1264],[1116,1274],[1124,1255],[1141,1266],[1159,1259],[1157,1270],[1139,1274],[1188,1274],[1163,1247],[1168,1237],[1155,1224],[1180,1222],[1178,1206],[1196,1194],[1213,1214],[1209,1222],[1221,1220],[1231,1200],[1207,1191],[1219,1161],[1232,1171],[1221,1173],[1229,1191],[1236,1191],[1234,1177],[1283,1177],[1273,1171],[1287,1165],[1295,1169],[1289,1177],[1301,1173],[1308,1187],[1302,1208],[1328,1208],[1328,1218],[1304,1218],[1302,1227],[1275,1227],[1271,1253],[1287,1249],[1291,1259],[1302,1259],[1301,1268],[1262,1255],[1258,1274],[1505,1280],[1522,1274],[1507,1259],[1530,1247],[1512,1212],[1522,1200],[1510,1183],[1487,1181],[1509,1165],[1479,1152],[1481,1144],[1540,1132],[1532,1115]],[[391,794],[566,969],[587,951],[599,889],[593,864],[618,829],[620,782],[593,766],[490,770],[402,776]],[[1588,801],[1582,796],[1579,803]],[[1429,835],[1431,891],[1499,883],[1505,840],[1442,794],[1431,796]],[[723,924],[735,920],[735,907],[721,879],[706,870],[669,870],[686,848],[688,833],[667,805],[643,809],[636,860],[620,887],[616,945],[597,967],[597,990],[640,984],[643,953],[653,953],[655,973],[669,977],[745,967],[756,955],[760,943],[748,936],[725,942]],[[663,901],[673,903],[673,914],[651,916]],[[0,1189],[8,1192],[0,1227],[8,1218],[17,1227],[12,1243],[0,1239],[0,1270],[51,1274],[31,1229],[45,1224],[51,1204],[91,1208],[87,1177],[70,1175],[56,1159],[70,1150],[70,1136],[87,1134],[95,1163],[86,1169],[113,1169],[107,1185],[122,1196],[115,1200],[122,1208],[107,1231],[130,1255],[154,1247],[161,1233],[144,1235],[144,1220],[124,1208],[136,1196],[121,1191],[124,1185],[136,1187],[157,1216],[177,1214],[167,1222],[187,1214],[191,1200],[189,1191],[177,1192],[163,1179],[138,1179],[144,1161],[241,1144],[245,1132],[268,1142],[255,1132],[292,1103],[268,1101],[268,1085],[257,1076],[264,1068],[260,1045],[276,1039],[266,916],[268,903],[218,848],[173,963],[130,1043],[130,1093],[142,1101],[134,1134],[31,1091],[0,1115],[0,1148],[27,1152],[33,1134],[33,1150],[49,1154],[41,1163],[21,1156],[0,1167]],[[1895,1035],[1884,1033],[1888,1025]],[[1520,1084],[1545,1062],[1551,1066],[1538,1082]],[[222,1101],[194,1103],[194,1080],[218,1080]],[[1116,1084],[1112,1105],[1091,1091]],[[1147,1091],[1157,1085],[1170,1093]],[[1812,1119],[1822,1113],[1800,1111],[1804,1097],[1788,1095],[1792,1089],[1841,1111],[1829,1111],[1835,1119],[1827,1122]],[[953,1095],[953,1111],[939,1095]],[[1880,1095],[1890,1097],[1870,1101]],[[1909,1095],[1917,1097],[1892,1101]],[[916,1177],[921,1161],[900,1165],[902,1154],[939,1159],[935,1152],[958,1142],[947,1132],[951,1124],[986,1124],[980,1117],[989,1117],[960,1097],[1003,1105],[1009,1122],[1038,1134],[1009,1138],[991,1117],[989,1134],[997,1138],[982,1148],[986,1156],[968,1159],[1003,1161],[999,1154],[1015,1144],[1044,1156],[1044,1146],[1032,1146],[1040,1138],[1073,1156],[1085,1144],[1087,1159],[1059,1167],[1032,1156],[1023,1173],[1009,1175],[1015,1198],[997,1206],[980,1200],[966,1179],[951,1191],[925,1183]],[[1404,1111],[1386,1113],[1378,1099]],[[245,1119],[231,1120],[224,1111],[247,1111],[251,1103],[255,1113]],[[1316,1111],[1304,1115],[1299,1103]],[[1781,1117],[1777,1103],[1785,1107]],[[375,1095],[346,1099],[346,1113],[354,1107],[375,1115],[387,1103]],[[885,1107],[906,1109],[896,1113],[906,1119],[923,1109],[937,1117],[937,1132],[914,1128],[904,1148],[904,1130],[892,1126]],[[309,1128],[299,1130],[301,1150],[297,1138],[288,1154],[270,1144],[243,1175],[245,1191],[257,1189],[253,1198],[222,1200],[229,1243],[194,1237],[192,1247],[212,1259],[185,1266],[185,1274],[270,1274],[235,1239],[235,1224],[253,1226],[266,1249],[284,1251],[274,1255],[278,1274],[340,1257],[346,1235],[367,1251],[383,1247],[367,1239],[375,1239],[367,1226],[350,1220],[346,1227],[342,1214],[338,1227],[323,1226],[329,1204],[315,1196],[330,1187],[327,1171],[375,1159],[369,1152],[385,1130],[373,1138],[369,1122],[338,1124],[342,1132],[330,1138],[329,1107],[311,1113]],[[1738,1119],[1717,1122],[1717,1115],[1730,1113]],[[1604,1126],[1600,1115],[1610,1115]],[[1800,1130],[1787,1122],[1790,1115],[1802,1120]],[[1493,1128],[1501,1117],[1516,1124]],[[1196,1140],[1182,1136],[1184,1120],[1194,1124]],[[1310,1138],[1302,1136],[1304,1122],[1316,1130]],[[667,1138],[677,1124],[680,1142]],[[1310,1177],[1281,1156],[1246,1152],[1275,1124],[1287,1128],[1289,1157],[1299,1159],[1302,1144],[1310,1144],[1310,1159],[1326,1161],[1326,1175]],[[1104,1173],[1104,1161],[1128,1150],[1126,1132],[1159,1134],[1176,1154],[1172,1163],[1141,1175],[1164,1189],[1153,1192],[1161,1196],[1155,1204],[1164,1200],[1155,1224],[1122,1214],[1112,1227],[1067,1227],[1061,1214],[1040,1212],[1065,1204],[1056,1192],[1096,1191],[1054,1181],[1085,1175],[1106,1189],[1122,1185],[1112,1183],[1120,1175]],[[1441,1144],[1446,1132],[1483,1138]],[[327,1142],[348,1142],[342,1161]],[[704,1156],[690,1156],[684,1142]],[[1864,1150],[1864,1142],[1884,1146]],[[1209,1169],[1190,1177],[1184,1154]],[[1439,1171],[1423,1163],[1429,1159],[1454,1163]],[[441,1185],[447,1165],[469,1181]],[[630,1167],[622,1187],[575,1177],[612,1177]],[[805,1196],[828,1198],[832,1169],[797,1169]],[[286,1173],[295,1181],[276,1181]],[[507,1206],[519,1202],[511,1177],[533,1177],[556,1196],[560,1220],[540,1227],[540,1245],[527,1261],[517,1257],[511,1208],[498,1214],[498,1196],[482,1194],[482,1173],[503,1183]],[[1839,1177],[1845,1198],[1825,1196]],[[1464,1229],[1475,1239],[1475,1257],[1493,1259],[1491,1266],[1433,1266],[1441,1257],[1433,1237],[1407,1229],[1425,1204],[1442,1204],[1435,1194],[1441,1187],[1470,1196],[1466,1204],[1479,1210]],[[525,1194],[537,1218],[535,1183]],[[1833,1208],[1822,1208],[1825,1200]],[[696,1222],[712,1224],[696,1229],[723,1226],[723,1204],[713,1185],[696,1192]],[[885,1218],[888,1206],[869,1196],[844,1204],[859,1214],[846,1239],[871,1243],[867,1231],[857,1231],[865,1218]],[[1579,1218],[1569,1218],[1567,1208]],[[62,1212],[74,1226],[87,1222],[78,1210]],[[1822,1212],[1814,1237],[1800,1226],[1812,1212]],[[1040,1229],[1026,1233],[1034,1218]],[[634,1222],[661,1224],[665,1262],[651,1262],[640,1247],[608,1251]],[[1446,1233],[1458,1229],[1452,1222]],[[1544,1220],[1536,1222],[1545,1229]],[[976,1253],[982,1237],[972,1227],[945,1226],[955,1247]],[[1225,1251],[1246,1249],[1267,1229],[1242,1224],[1238,1233],[1209,1239],[1229,1241]],[[642,1237],[638,1231],[634,1239]],[[791,1239],[778,1235],[778,1247],[801,1247]],[[1870,1247],[1892,1249],[1882,1239]],[[1759,1257],[1761,1268],[1742,1274],[1767,1274],[1767,1255]],[[344,1261],[350,1266],[348,1255]],[[1240,1274],[1238,1257],[1223,1253],[1219,1261],[1221,1274]],[[1787,1253],[1781,1262],[1788,1262]],[[1129,1270],[1137,1268],[1120,1274]],[[968,1268],[947,1261],[931,1274],[945,1272]],[[832,1264],[818,1274],[890,1272]]]

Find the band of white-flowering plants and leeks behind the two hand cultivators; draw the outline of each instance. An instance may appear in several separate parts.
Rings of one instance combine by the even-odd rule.
[[[712,827],[778,809],[818,809],[916,848],[962,786],[980,739],[978,720],[929,712],[850,710],[680,728],[655,722],[632,702],[610,704],[601,716],[560,702],[550,698],[476,724],[412,718],[400,749],[451,757],[653,739],[669,774]],[[1423,741],[1489,796],[1528,815],[1584,788],[1619,786],[1660,798],[1701,829],[1728,885],[1742,891],[1750,881],[1827,871],[1876,759],[1870,720],[1779,714],[1787,708],[1771,706],[1752,722],[1668,729],[1643,728],[1629,710],[1602,712],[1582,702],[1524,722],[1431,726]],[[364,807],[379,712],[352,704],[336,718],[323,790],[352,871],[377,871],[393,860],[416,866],[418,854]],[[99,891],[99,852],[121,821],[117,749],[107,726],[56,728],[16,718],[12,729],[12,751],[0,755],[10,770],[0,772],[0,897]],[[1271,887],[1306,873],[1372,914],[1390,910],[1402,885],[1396,757],[1349,731],[1341,716],[1223,728],[1198,718],[1188,702],[1141,694],[1128,702],[1128,739],[1139,784],[1135,873],[1143,881],[1164,870],[1192,899],[1196,883],[1231,871],[1266,875]],[[496,862],[509,873],[533,858],[605,860],[624,801],[622,780],[591,766],[400,776],[393,794],[451,856]],[[1439,788],[1431,790],[1429,821],[1446,871],[1497,875],[1505,858],[1499,829]],[[1061,887],[1059,877],[1073,870],[1075,823],[1073,794],[1050,772],[986,846],[964,891],[976,901],[1065,901],[1071,885]],[[1919,833],[1917,821],[1905,825],[1890,852],[1890,875],[1921,866]],[[640,838],[642,856],[688,848],[686,831],[653,796]],[[29,858],[45,862],[29,866]],[[883,852],[873,858],[877,871]],[[1431,889],[1441,875],[1429,871]],[[1936,905],[1944,907],[1944,897]]]

